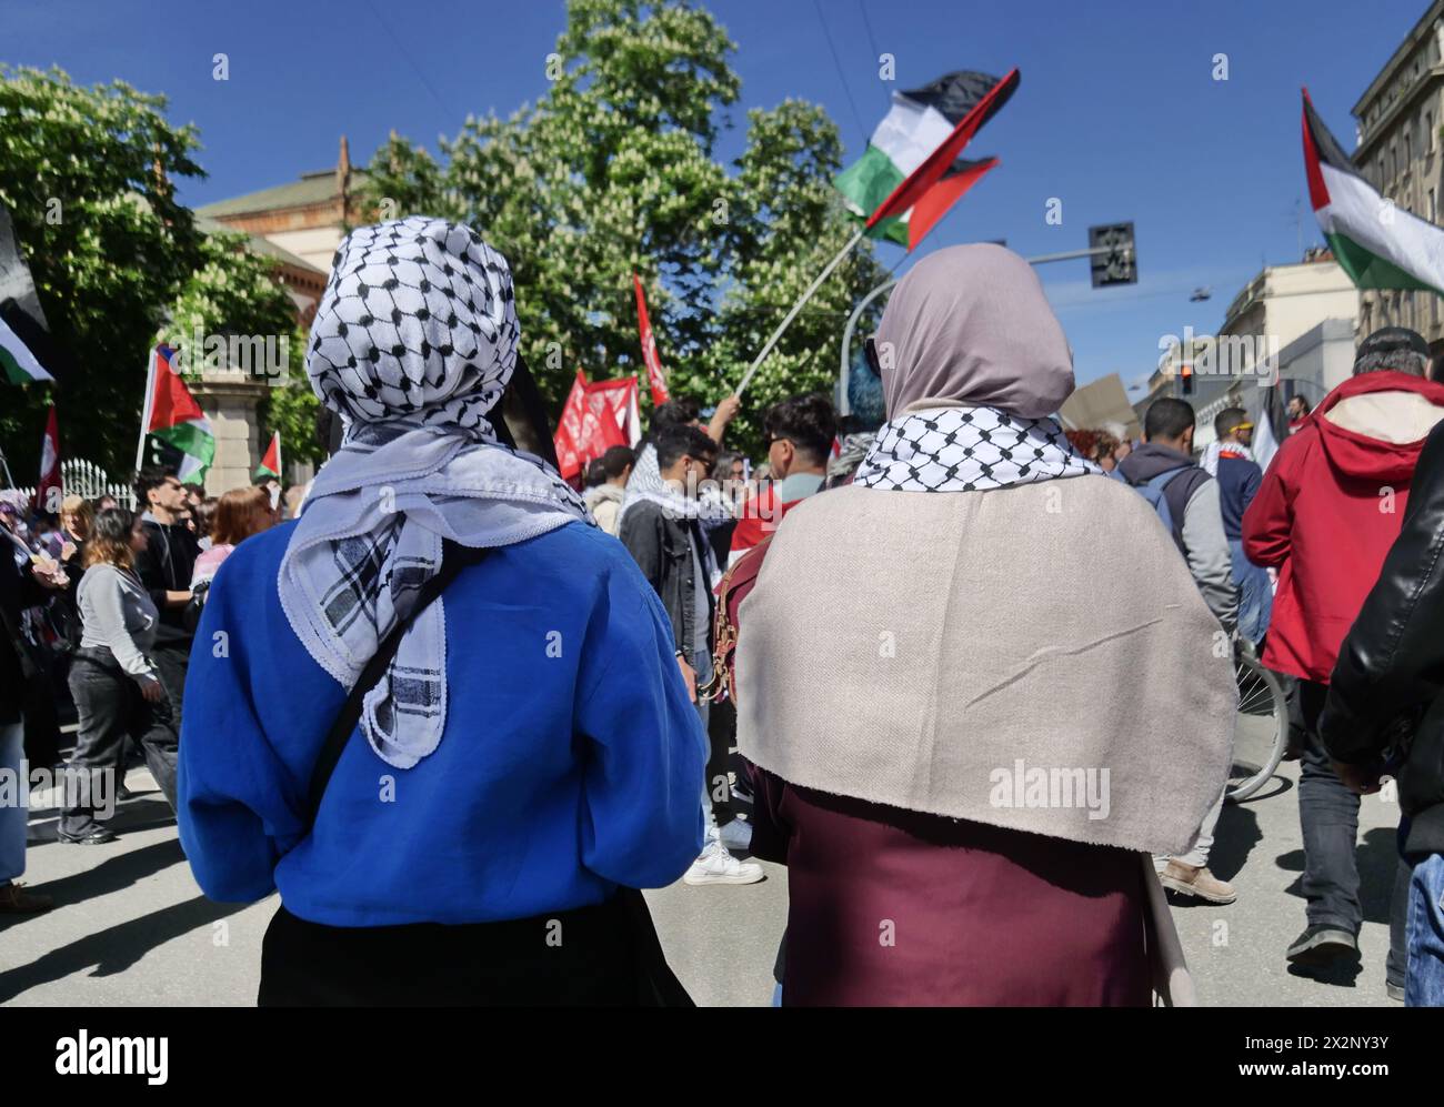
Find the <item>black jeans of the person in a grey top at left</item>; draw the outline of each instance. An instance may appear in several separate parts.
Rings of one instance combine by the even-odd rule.
[[[129,735],[146,755],[146,766],[156,778],[170,808],[176,805],[176,729],[170,703],[149,703],[140,686],[126,674],[108,649],[79,649],[71,665],[71,696],[79,714],[79,732],[69,765],[77,771],[114,774],[120,748]],[[110,795],[118,779],[111,778]],[[75,798],[75,797],[72,797]],[[84,837],[97,828],[95,797],[66,805],[61,814],[61,833]]]

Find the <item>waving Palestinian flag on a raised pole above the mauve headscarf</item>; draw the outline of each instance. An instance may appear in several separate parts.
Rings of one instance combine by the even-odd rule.
[[[833,180],[848,209],[868,219],[871,235],[913,250],[998,165],[996,157],[965,162],[957,154],[1008,102],[1018,79],[1017,69],[1002,79],[959,71],[892,94],[866,152]]]

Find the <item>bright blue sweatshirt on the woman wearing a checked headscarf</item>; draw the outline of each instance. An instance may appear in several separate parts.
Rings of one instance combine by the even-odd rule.
[[[208,896],[279,889],[292,914],[335,927],[487,922],[686,870],[706,736],[656,593],[621,543],[580,522],[462,572],[443,593],[440,746],[396,769],[352,733],[308,834],[345,688],[280,606],[293,525],[225,559],[191,654],[180,844]]]

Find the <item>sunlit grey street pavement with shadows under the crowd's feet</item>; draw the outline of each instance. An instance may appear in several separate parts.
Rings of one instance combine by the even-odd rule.
[[[1302,928],[1297,768],[1285,765],[1265,797],[1225,810],[1213,867],[1239,888],[1226,908],[1178,906],[1174,915],[1200,999],[1210,1006],[1392,1006],[1383,990],[1392,826],[1398,808],[1363,801],[1365,928],[1362,971],[1327,981],[1295,976],[1284,947]],[[208,902],[191,879],[175,823],[143,769],[142,792],[118,815],[110,846],[55,841],[55,813],[36,807],[25,879],[52,893],[48,915],[0,922],[0,1003],[250,1005],[260,942],[276,908]],[[771,994],[787,875],[749,888],[674,885],[650,893],[671,964],[700,1005],[761,1006]]]

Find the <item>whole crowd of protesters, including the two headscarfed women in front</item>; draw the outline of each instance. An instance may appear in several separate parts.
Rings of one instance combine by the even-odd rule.
[[[358,368],[354,286],[397,264],[456,313]],[[1190,1003],[1165,891],[1238,899],[1209,862],[1239,658],[1288,684],[1301,762],[1281,953],[1357,960],[1359,795],[1396,776],[1388,989],[1444,1003],[1444,384],[1418,335],[1294,397],[1265,471],[1239,407],[1201,452],[1181,398],[1136,440],[1064,432],[1035,274],[954,247],[868,341],[875,417],[788,397],[748,458],[738,397],[676,400],[576,489],[498,407],[527,387],[516,312],[468,228],[361,228],[306,367],[347,432],[295,522],[279,486],[202,501],[153,469],[139,515],[0,504],[0,667],[74,608],[71,763],[133,742],[201,888],[280,892],[261,1003],[684,1003],[638,889],[755,885],[758,859],[788,867],[774,1003]],[[432,372],[452,338],[468,372]],[[113,837],[85,805],[59,833]]]

